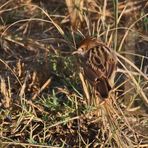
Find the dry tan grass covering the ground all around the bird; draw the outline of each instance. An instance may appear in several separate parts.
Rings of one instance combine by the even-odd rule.
[[[126,26],[124,3],[87,0],[71,8],[68,0],[57,1],[0,2],[0,145],[148,147],[148,57],[124,51],[133,27],[137,48],[147,50],[146,4]],[[116,85],[103,103],[71,55],[88,35],[100,37],[118,56]]]

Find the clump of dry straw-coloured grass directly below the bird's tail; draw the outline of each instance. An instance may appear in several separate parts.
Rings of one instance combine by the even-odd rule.
[[[125,126],[130,129],[130,125],[128,125],[128,121],[119,109],[115,108],[114,103],[111,100],[106,100],[105,103],[101,105],[102,107],[102,122],[104,126],[105,133],[108,132],[108,140],[106,143],[110,143],[110,141],[114,141],[116,146],[111,142],[111,145],[115,147],[130,147],[133,146],[132,142],[126,137],[126,135],[122,134],[122,126]],[[125,122],[123,125],[120,125],[120,120]],[[106,129],[105,129],[106,127]],[[103,130],[102,130],[103,131]]]

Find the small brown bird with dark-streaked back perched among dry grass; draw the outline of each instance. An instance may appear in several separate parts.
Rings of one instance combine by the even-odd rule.
[[[112,49],[96,38],[84,39],[78,50],[85,78],[99,97],[108,98],[114,85],[117,58]]]

